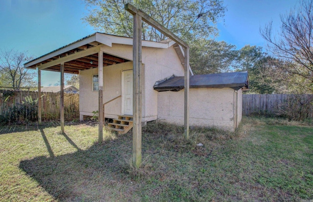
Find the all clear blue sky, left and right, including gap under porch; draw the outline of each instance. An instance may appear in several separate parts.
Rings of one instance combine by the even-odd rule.
[[[260,26],[273,21],[279,29],[280,14],[296,0],[224,0],[225,22],[219,23],[219,41],[236,45],[265,47]],[[83,0],[0,0],[0,44],[2,50],[28,51],[39,57],[73,41],[94,29],[81,19],[88,14]],[[60,80],[58,73],[43,71],[42,85]]]

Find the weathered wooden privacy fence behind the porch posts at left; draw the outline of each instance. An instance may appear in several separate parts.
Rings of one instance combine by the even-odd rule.
[[[60,93],[42,92],[41,96],[42,120],[60,119]],[[13,121],[21,121],[21,119],[36,121],[37,111],[38,92],[0,90],[0,116],[2,116],[2,120],[5,117],[13,116]],[[79,118],[78,94],[64,94],[64,116],[67,121]]]

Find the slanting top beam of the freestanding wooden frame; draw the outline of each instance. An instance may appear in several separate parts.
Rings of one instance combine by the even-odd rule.
[[[168,36],[170,39],[172,39],[173,41],[175,41],[179,45],[186,47],[186,48],[189,48],[189,46],[183,40],[181,40],[178,36],[176,36],[173,32],[171,32],[170,30],[165,28],[163,25],[156,22],[153,18],[151,18],[150,16],[148,16],[147,14],[142,12],[141,10],[135,8],[132,4],[130,4],[130,3],[125,4],[125,9],[128,12],[132,13],[133,15],[136,14],[136,15],[141,16],[141,18],[144,22],[153,26],[158,31],[160,31],[162,34]]]

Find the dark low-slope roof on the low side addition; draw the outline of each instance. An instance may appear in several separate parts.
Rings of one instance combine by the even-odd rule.
[[[224,88],[234,90],[248,89],[248,72],[232,72],[210,75],[194,75],[189,79],[190,88]],[[157,81],[154,85],[156,91],[179,91],[184,88],[184,76],[171,76]]]

